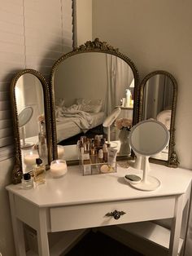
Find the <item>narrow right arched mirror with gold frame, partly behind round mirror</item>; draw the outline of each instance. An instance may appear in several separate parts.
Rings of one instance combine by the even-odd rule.
[[[166,126],[170,133],[168,146],[151,156],[150,161],[177,167],[179,164],[175,146],[175,116],[177,81],[172,74],[157,70],[149,73],[141,82],[139,121],[155,119]]]

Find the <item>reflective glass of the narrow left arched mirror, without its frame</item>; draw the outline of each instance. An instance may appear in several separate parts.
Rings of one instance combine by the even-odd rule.
[[[15,98],[23,172],[28,172],[38,157],[47,164],[44,100],[39,79],[30,73],[22,75],[15,85]]]

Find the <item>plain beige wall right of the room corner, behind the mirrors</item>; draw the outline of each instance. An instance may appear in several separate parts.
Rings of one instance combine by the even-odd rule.
[[[192,1],[93,0],[93,38],[116,46],[141,78],[157,69],[178,83],[176,151],[192,169]]]

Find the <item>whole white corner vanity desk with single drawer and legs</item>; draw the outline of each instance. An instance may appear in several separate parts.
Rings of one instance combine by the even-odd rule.
[[[192,172],[151,164],[151,173],[161,181],[160,188],[153,192],[131,188],[124,181],[128,173],[138,171],[118,167],[115,174],[83,176],[78,166],[70,166],[68,174],[60,179],[52,179],[47,171],[46,184],[37,188],[7,186],[17,255],[26,255],[23,223],[37,230],[39,255],[48,256],[47,232],[172,218],[168,255],[177,256],[179,238],[185,236],[181,219],[190,201]],[[126,214],[119,219],[105,216],[114,210]]]

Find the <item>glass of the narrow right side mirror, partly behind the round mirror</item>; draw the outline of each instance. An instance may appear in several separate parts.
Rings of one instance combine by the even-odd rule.
[[[173,84],[164,74],[156,74],[144,86],[142,120],[155,119],[170,130],[172,117]],[[168,160],[168,146],[153,158]]]

